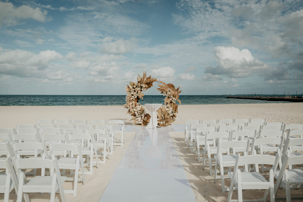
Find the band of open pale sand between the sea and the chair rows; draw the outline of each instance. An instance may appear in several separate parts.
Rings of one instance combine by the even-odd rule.
[[[125,119],[126,124],[131,124],[132,118],[123,105],[0,106],[0,112],[0,127],[5,128],[36,124],[37,119]],[[268,122],[303,124],[303,103],[181,104],[172,124],[225,118],[267,118]]]

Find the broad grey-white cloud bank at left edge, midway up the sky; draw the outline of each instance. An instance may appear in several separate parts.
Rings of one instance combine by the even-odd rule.
[[[63,56],[56,51],[41,51],[35,54],[19,49],[0,48],[0,74],[18,77],[42,77],[52,61],[60,60]],[[50,75],[50,74],[49,74]]]

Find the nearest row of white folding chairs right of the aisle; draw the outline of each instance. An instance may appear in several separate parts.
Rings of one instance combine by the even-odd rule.
[[[286,167],[294,164],[303,164],[303,155],[291,157],[289,153],[285,154],[282,156],[283,163],[280,170],[277,170],[280,159],[281,156],[279,152],[277,152],[276,157],[261,154],[246,156],[237,154],[234,172],[228,173],[228,176],[231,178],[231,185],[229,187],[227,201],[242,201],[242,190],[248,189],[265,189],[265,194],[263,199],[261,199],[262,201],[266,200],[268,193],[270,193],[270,201],[285,200],[285,197],[275,197],[280,186],[285,189],[286,201],[302,200],[302,196],[292,198],[290,189],[303,188],[303,170],[301,167],[286,170]],[[258,164],[272,165],[269,171],[269,179],[266,180],[258,170],[250,172],[250,166],[248,166],[250,164],[256,164],[255,167],[258,167]],[[244,166],[244,172],[238,169],[239,166]],[[276,179],[275,184],[274,178]],[[231,200],[234,190],[238,190],[238,200]]]

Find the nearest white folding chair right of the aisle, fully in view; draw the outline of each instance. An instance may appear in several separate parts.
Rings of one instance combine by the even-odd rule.
[[[260,201],[265,201],[270,192],[270,201],[275,201],[274,192],[274,173],[278,167],[278,161],[280,154],[277,153],[276,156],[255,154],[240,156],[237,154],[236,163],[234,167],[234,172],[228,172],[228,176],[231,178],[231,184],[229,187],[227,201],[243,201],[242,200],[242,190],[249,189],[265,189],[265,194]],[[255,164],[256,171],[249,172],[249,164]],[[269,171],[269,180],[266,180],[258,171],[258,164],[268,164],[272,165],[272,169]],[[241,172],[239,166],[244,166],[244,172]],[[235,188],[238,190],[238,200],[232,200],[232,193]],[[256,200],[255,200],[256,201]]]

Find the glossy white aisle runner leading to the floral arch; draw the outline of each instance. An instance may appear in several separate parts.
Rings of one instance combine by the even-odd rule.
[[[135,137],[99,201],[196,201],[169,135],[181,128],[128,127]]]

